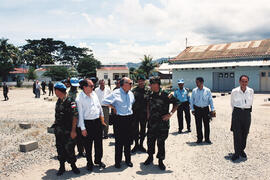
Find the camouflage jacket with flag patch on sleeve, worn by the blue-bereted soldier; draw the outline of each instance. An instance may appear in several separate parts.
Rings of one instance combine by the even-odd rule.
[[[55,106],[55,125],[71,131],[73,117],[78,118],[75,100],[70,97],[66,97],[63,100],[58,98]]]

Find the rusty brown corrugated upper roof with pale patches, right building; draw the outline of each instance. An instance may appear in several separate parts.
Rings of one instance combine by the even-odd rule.
[[[190,60],[235,59],[248,57],[270,57],[270,39],[191,46],[170,62]]]

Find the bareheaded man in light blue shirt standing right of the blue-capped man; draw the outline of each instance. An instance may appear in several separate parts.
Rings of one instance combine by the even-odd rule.
[[[203,85],[204,80],[202,77],[196,78],[197,87],[192,90],[190,106],[192,114],[195,115],[197,143],[201,143],[203,139],[202,122],[204,125],[205,142],[211,144],[210,135],[210,114],[209,105],[211,108],[211,116],[215,116],[215,109],[210,89]]]

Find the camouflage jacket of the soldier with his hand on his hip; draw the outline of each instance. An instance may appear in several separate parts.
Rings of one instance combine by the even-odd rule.
[[[161,128],[169,128],[169,121],[163,121],[162,116],[169,114],[170,104],[181,104],[174,96],[169,97],[169,93],[162,89],[159,92],[151,92],[148,96],[149,103],[149,122],[148,126],[160,126]]]

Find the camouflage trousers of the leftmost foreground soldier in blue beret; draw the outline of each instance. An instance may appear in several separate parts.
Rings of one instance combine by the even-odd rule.
[[[55,127],[55,139],[56,139],[56,149],[57,149],[57,159],[60,162],[67,161],[68,163],[75,163],[75,144],[76,139],[70,137],[70,131],[67,131],[61,127]]]

